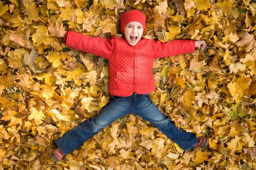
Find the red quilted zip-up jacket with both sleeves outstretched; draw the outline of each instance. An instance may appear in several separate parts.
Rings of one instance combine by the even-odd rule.
[[[109,92],[113,96],[148,94],[155,91],[152,74],[155,58],[191,53],[195,50],[193,40],[173,40],[170,42],[141,39],[131,46],[125,38],[91,37],[68,31],[66,45],[108,59]]]

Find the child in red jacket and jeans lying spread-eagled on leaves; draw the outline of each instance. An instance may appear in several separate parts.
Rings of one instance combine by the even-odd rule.
[[[198,139],[195,134],[178,129],[149,98],[149,93],[155,90],[152,74],[155,58],[192,53],[195,48],[205,49],[207,44],[193,40],[163,43],[143,39],[145,21],[145,14],[139,10],[124,12],[120,17],[120,29],[125,37],[112,37],[110,40],[67,32],[64,41],[68,47],[108,59],[111,99],[98,115],[82,122],[56,141],[58,148],[52,151],[55,161],[60,161],[102,128],[128,113],[151,122],[185,151],[207,146],[206,137]]]

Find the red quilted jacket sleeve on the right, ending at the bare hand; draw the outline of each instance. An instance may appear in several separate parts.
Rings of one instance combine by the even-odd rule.
[[[194,40],[172,40],[170,42],[153,42],[154,58],[163,58],[195,51]]]

